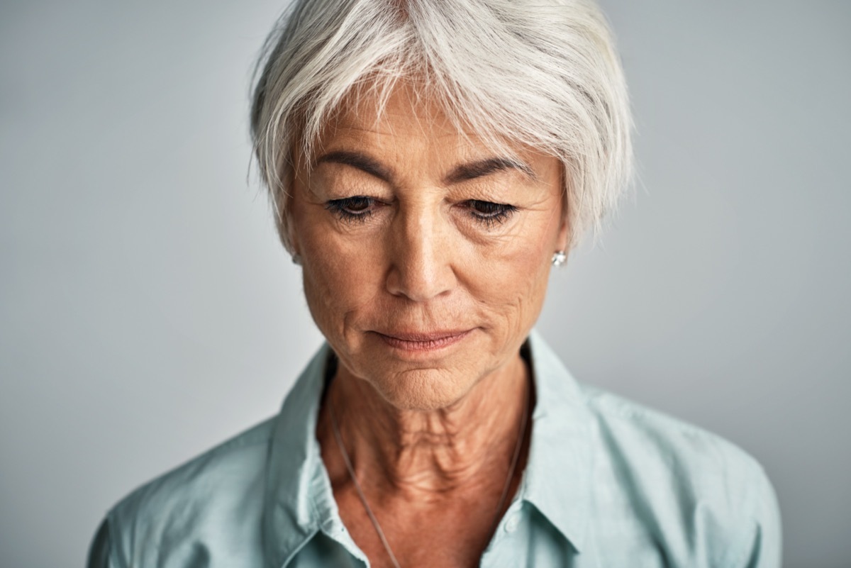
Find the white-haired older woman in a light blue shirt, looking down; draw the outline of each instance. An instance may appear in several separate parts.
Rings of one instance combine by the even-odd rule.
[[[301,0],[252,128],[327,344],[277,417],[107,515],[90,566],[780,565],[728,442],[576,383],[532,328],[630,173],[587,0]]]

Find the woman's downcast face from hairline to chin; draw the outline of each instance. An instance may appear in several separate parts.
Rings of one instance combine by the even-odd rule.
[[[341,107],[296,160],[288,230],[341,372],[434,410],[516,362],[568,235],[556,158],[494,154],[414,100]]]

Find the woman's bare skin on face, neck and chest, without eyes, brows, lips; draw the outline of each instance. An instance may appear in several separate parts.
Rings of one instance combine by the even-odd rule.
[[[288,237],[302,258],[311,315],[339,360],[317,439],[340,515],[374,565],[385,565],[386,553],[336,449],[329,406],[403,565],[477,565],[500,513],[529,385],[519,348],[540,313],[551,255],[568,241],[562,170],[556,158],[517,145],[515,156],[494,155],[438,106],[414,105],[405,88],[391,94],[380,122],[372,101],[344,101],[317,141],[319,159],[295,156]],[[334,151],[368,156],[385,179],[323,162]],[[534,175],[503,163],[453,179],[516,156]],[[328,208],[353,196],[374,200],[362,219]],[[470,200],[517,210],[484,224]],[[414,355],[376,333],[449,329],[467,334]]]

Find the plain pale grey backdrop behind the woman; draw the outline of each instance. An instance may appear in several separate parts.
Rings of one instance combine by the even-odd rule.
[[[540,329],[754,454],[787,566],[851,565],[851,3],[603,6],[641,183]],[[320,341],[246,183],[282,3],[0,7],[0,565],[82,565],[106,508],[276,412]]]

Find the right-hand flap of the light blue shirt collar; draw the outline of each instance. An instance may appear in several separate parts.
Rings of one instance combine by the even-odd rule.
[[[593,416],[579,384],[537,332],[528,348],[536,400],[521,497],[579,552],[591,514]]]

